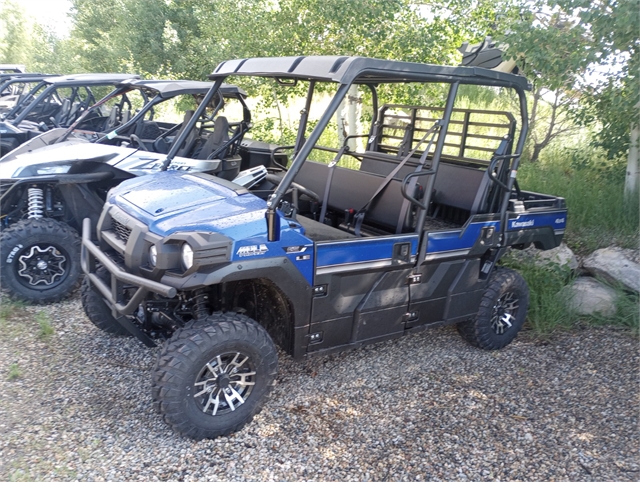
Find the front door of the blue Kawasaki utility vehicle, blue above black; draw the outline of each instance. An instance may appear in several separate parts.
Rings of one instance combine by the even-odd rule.
[[[417,249],[417,235],[316,243],[309,351],[402,331]]]

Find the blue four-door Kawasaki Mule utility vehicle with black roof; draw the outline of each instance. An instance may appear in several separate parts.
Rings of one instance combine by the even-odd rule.
[[[84,221],[85,312],[162,343],[152,397],[169,425],[195,439],[239,430],[271,389],[276,344],[301,360],[438,325],[487,350],[516,337],[527,285],[497,263],[508,247],[558,246],[567,219],[562,198],[516,181],[524,77],[254,58],[220,64],[208,96],[237,76],[306,91],[293,145],[244,141],[270,160],[264,180],[160,172],[123,182]],[[474,86],[511,90],[518,117],[465,107]]]

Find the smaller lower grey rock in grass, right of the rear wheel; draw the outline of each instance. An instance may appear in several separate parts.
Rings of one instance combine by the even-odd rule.
[[[579,315],[611,317],[616,313],[618,293],[597,279],[582,276],[561,292],[567,306]]]

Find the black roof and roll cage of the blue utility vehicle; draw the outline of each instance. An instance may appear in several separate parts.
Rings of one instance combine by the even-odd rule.
[[[428,205],[429,198],[433,190],[435,174],[437,173],[438,164],[442,155],[445,136],[451,120],[451,113],[453,111],[453,104],[458,92],[458,87],[462,84],[469,84],[514,89],[519,98],[521,120],[521,128],[515,151],[513,154],[495,156],[488,167],[491,172],[497,162],[501,160],[511,161],[509,168],[510,175],[508,176],[506,183],[499,181],[495,176],[491,175],[491,173],[489,174],[491,180],[498,183],[504,189],[503,198],[500,204],[500,226],[501,234],[504,239],[507,227],[506,221],[509,197],[516,180],[520,156],[522,155],[524,143],[529,130],[525,91],[531,90],[531,85],[524,77],[480,67],[438,66],[393,60],[368,59],[364,57],[310,56],[230,60],[219,64],[214,72],[209,76],[209,78],[214,80],[215,83],[211,88],[211,91],[207,93],[205,100],[203,100],[202,104],[194,114],[191,123],[195,124],[197,117],[202,113],[201,109],[204,109],[206,104],[211,100],[215,91],[217,91],[220,85],[222,85],[223,80],[232,75],[273,78],[281,84],[291,82],[293,85],[299,80],[309,82],[305,108],[301,113],[298,135],[293,148],[293,159],[291,165],[282,178],[280,184],[267,200],[266,218],[269,241],[275,241],[278,236],[278,230],[276,229],[277,216],[275,214],[278,204],[291,186],[291,183],[294,181],[303,163],[315,148],[320,136],[324,132],[352,85],[366,85],[371,90],[373,93],[373,100],[375,102],[374,112],[377,114],[378,100],[376,87],[379,84],[410,82],[450,84],[443,117],[439,121],[440,135],[438,136],[438,141],[431,160],[431,168],[420,173],[412,173],[406,176],[403,180],[404,186],[413,177],[418,175],[429,176],[427,186],[425,188],[426,199],[423,200],[423,202],[418,202],[416,199],[408,196],[406,194],[406,190],[403,189],[403,195],[410,202],[414,204],[417,203],[418,207],[422,208],[420,209],[420,214],[416,223],[416,232],[418,233],[422,232],[422,228],[424,226],[426,218],[426,209],[424,209],[424,206]],[[315,85],[318,81],[337,83],[338,89],[313,131],[310,133],[309,137],[305,139],[304,133],[307,128],[308,112],[314,95]],[[374,114],[374,116],[376,114]],[[372,130],[375,122],[376,118],[374,117],[371,123]],[[185,132],[192,127],[193,126],[188,126],[188,128],[185,129]],[[186,136],[185,132],[183,132],[183,134]],[[178,139],[175,143],[176,149],[180,144],[180,141],[181,139]],[[173,151],[174,149],[172,149],[167,155],[167,161],[165,161],[167,165],[172,156],[175,155],[175,152]],[[425,246],[421,247],[421,250],[426,249],[426,243],[422,244],[425,244]]]

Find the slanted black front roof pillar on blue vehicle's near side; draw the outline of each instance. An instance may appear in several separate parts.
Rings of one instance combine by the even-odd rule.
[[[276,206],[278,206],[278,203],[280,202],[284,194],[287,192],[287,189],[289,189],[289,186],[291,185],[291,183],[293,182],[293,179],[298,174],[298,171],[302,167],[302,164],[304,163],[304,161],[306,161],[307,157],[309,157],[309,154],[311,153],[311,150],[313,149],[315,144],[318,142],[318,139],[320,139],[320,135],[322,135],[322,132],[325,130],[325,128],[331,121],[331,118],[338,110],[338,107],[340,107],[340,103],[342,102],[342,99],[344,99],[344,96],[347,94],[349,87],[351,87],[351,84],[341,84],[340,87],[338,87],[338,90],[333,96],[333,99],[331,99],[331,102],[329,103],[324,114],[322,115],[322,117],[314,127],[313,131],[309,135],[309,138],[302,145],[300,152],[293,158],[293,161],[291,162],[291,167],[282,178],[282,182],[280,182],[280,184],[278,185],[274,193],[271,196],[269,196],[269,199],[267,200],[267,214],[266,214],[269,241],[277,240],[278,233],[276,232],[276,229],[275,229]]]

